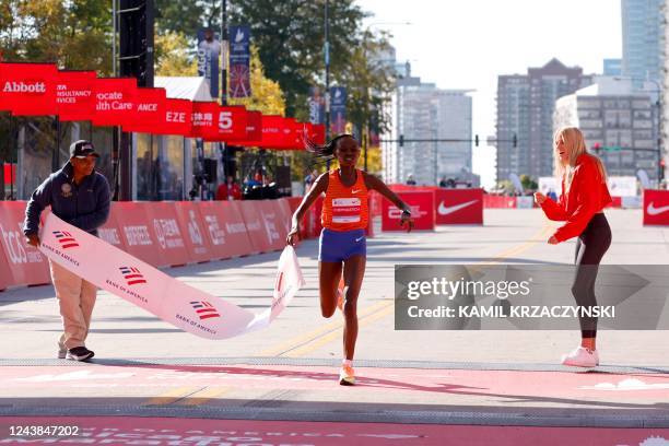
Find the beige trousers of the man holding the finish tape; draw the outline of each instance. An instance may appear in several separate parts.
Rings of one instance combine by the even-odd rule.
[[[85,347],[97,287],[56,262],[49,260],[49,266],[64,330],[58,345],[61,350]]]

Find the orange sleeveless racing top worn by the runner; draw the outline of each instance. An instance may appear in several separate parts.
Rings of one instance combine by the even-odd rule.
[[[331,231],[353,231],[367,227],[367,187],[361,169],[355,169],[355,184],[345,187],[339,171],[329,173],[328,189],[322,202],[320,224]]]

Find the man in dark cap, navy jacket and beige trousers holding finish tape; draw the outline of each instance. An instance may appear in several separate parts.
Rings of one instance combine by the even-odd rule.
[[[109,184],[95,171],[98,156],[90,141],[79,140],[70,145],[68,163],[39,185],[27,203],[23,233],[28,244],[39,246],[39,215],[48,206],[56,216],[97,235],[97,228],[109,216],[110,206]],[[97,289],[51,260],[49,266],[63,325],[58,357],[90,360],[94,353],[86,349],[85,340]]]

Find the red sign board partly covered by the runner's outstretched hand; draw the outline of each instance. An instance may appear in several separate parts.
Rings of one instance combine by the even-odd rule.
[[[435,225],[434,191],[398,191],[398,197],[411,207],[414,230],[432,231]],[[383,202],[382,231],[404,231],[400,226],[402,211],[388,200]]]

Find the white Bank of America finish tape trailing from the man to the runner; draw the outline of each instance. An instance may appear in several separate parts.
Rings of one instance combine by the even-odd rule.
[[[256,315],[196,290],[52,213],[46,218],[40,240],[40,250],[52,261],[162,320],[208,339],[232,338],[269,326],[304,285],[297,256],[289,246],[279,259],[271,306]]]

